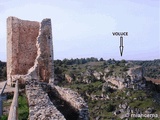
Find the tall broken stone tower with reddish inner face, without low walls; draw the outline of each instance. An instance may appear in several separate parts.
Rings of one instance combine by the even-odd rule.
[[[51,20],[7,18],[7,84],[23,77],[53,83]]]

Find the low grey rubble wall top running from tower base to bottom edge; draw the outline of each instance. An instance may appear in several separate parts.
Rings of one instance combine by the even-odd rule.
[[[65,120],[37,80],[26,81],[29,120]]]

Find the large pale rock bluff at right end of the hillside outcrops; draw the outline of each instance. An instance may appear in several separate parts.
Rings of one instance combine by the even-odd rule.
[[[145,88],[145,81],[143,78],[143,68],[136,66],[130,68],[124,78],[110,76],[106,77],[105,81],[108,83],[108,86],[113,89],[123,89],[124,87],[143,89]]]

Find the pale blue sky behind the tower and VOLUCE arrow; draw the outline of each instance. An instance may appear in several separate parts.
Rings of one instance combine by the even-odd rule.
[[[51,18],[54,59],[160,59],[160,0],[0,0],[0,60],[6,61],[6,19]],[[112,32],[128,32],[120,37]]]

